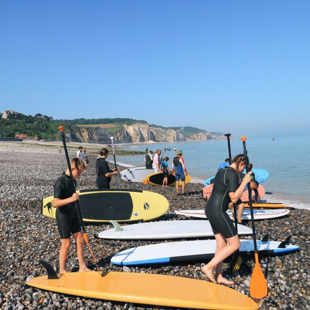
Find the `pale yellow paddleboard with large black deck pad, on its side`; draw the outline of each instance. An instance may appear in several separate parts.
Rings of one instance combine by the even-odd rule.
[[[168,200],[146,190],[89,189],[78,190],[79,204],[86,223],[147,221],[160,217],[169,208]],[[41,213],[55,218],[53,196],[43,199]]]

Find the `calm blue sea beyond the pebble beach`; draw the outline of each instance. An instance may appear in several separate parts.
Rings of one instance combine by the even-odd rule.
[[[231,139],[232,157],[243,153],[240,139]],[[267,202],[283,202],[295,208],[310,210],[310,137],[247,139],[249,162],[253,168],[265,169],[269,178],[262,183]],[[168,151],[167,148],[171,148]],[[169,166],[175,156],[174,147],[183,152],[188,174],[194,183],[201,183],[215,175],[217,167],[229,157],[227,140],[182,141],[122,145],[124,150],[162,150],[169,157]],[[166,151],[164,149],[166,148]],[[116,161],[127,167],[144,165],[144,155],[117,156]]]

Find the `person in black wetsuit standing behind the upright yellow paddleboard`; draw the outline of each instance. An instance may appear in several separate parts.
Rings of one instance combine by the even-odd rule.
[[[99,189],[109,189],[111,177],[117,175],[117,169],[110,170],[106,158],[109,155],[109,151],[106,148],[101,149],[100,157],[96,161],[96,171],[97,171],[97,187]]]

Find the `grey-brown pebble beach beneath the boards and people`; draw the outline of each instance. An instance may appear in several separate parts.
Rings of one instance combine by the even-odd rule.
[[[76,153],[69,151],[70,157]],[[112,160],[112,154],[108,159]],[[90,155],[87,171],[77,180],[78,189],[96,188],[96,155]],[[114,164],[113,164],[114,166]],[[66,168],[64,152],[57,148],[25,147],[16,143],[0,145],[0,309],[173,309],[169,307],[91,300],[34,289],[25,282],[46,274],[38,262],[45,259],[59,267],[60,237],[55,220],[41,215],[41,200],[53,195],[53,184]],[[112,168],[112,165],[111,165]],[[120,170],[125,167],[119,166]],[[111,188],[116,188],[112,178]],[[144,184],[120,182],[122,188],[142,189],[164,195],[170,203],[168,212],[154,221],[188,219],[175,210],[203,209],[202,184],[187,184],[186,195],[177,196],[174,187],[162,188]],[[284,202],[285,203],[285,202]],[[250,221],[246,222],[251,227]],[[256,300],[261,309],[310,309],[310,211],[294,209],[285,217],[255,221],[257,239],[269,234],[270,240],[282,241],[288,236],[300,250],[281,256],[260,257],[260,265],[268,283],[268,296]],[[153,273],[206,280],[201,267],[206,262],[184,262],[150,266],[122,267],[110,263],[117,252],[134,246],[161,241],[113,241],[94,238],[95,233],[109,225],[87,225],[86,231],[98,266],[102,271]],[[251,236],[241,236],[251,239]],[[185,239],[182,239],[185,240]],[[173,241],[181,241],[173,240]],[[168,240],[167,242],[170,242]],[[85,246],[85,260],[91,268],[93,259]],[[227,274],[230,264],[224,263]],[[254,261],[247,258],[234,285],[230,287],[249,296],[249,283]],[[78,260],[72,243],[67,259],[67,271],[78,270]]]

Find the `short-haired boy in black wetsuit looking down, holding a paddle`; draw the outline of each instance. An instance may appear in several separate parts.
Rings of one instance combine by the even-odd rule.
[[[85,171],[85,164],[79,158],[70,160],[72,175],[77,179]],[[59,273],[65,273],[65,263],[71,243],[71,233],[76,241],[79,271],[90,271],[84,261],[84,240],[76,208],[79,196],[70,177],[69,169],[62,173],[54,184],[53,206],[56,210],[56,222],[62,247],[59,252]]]

